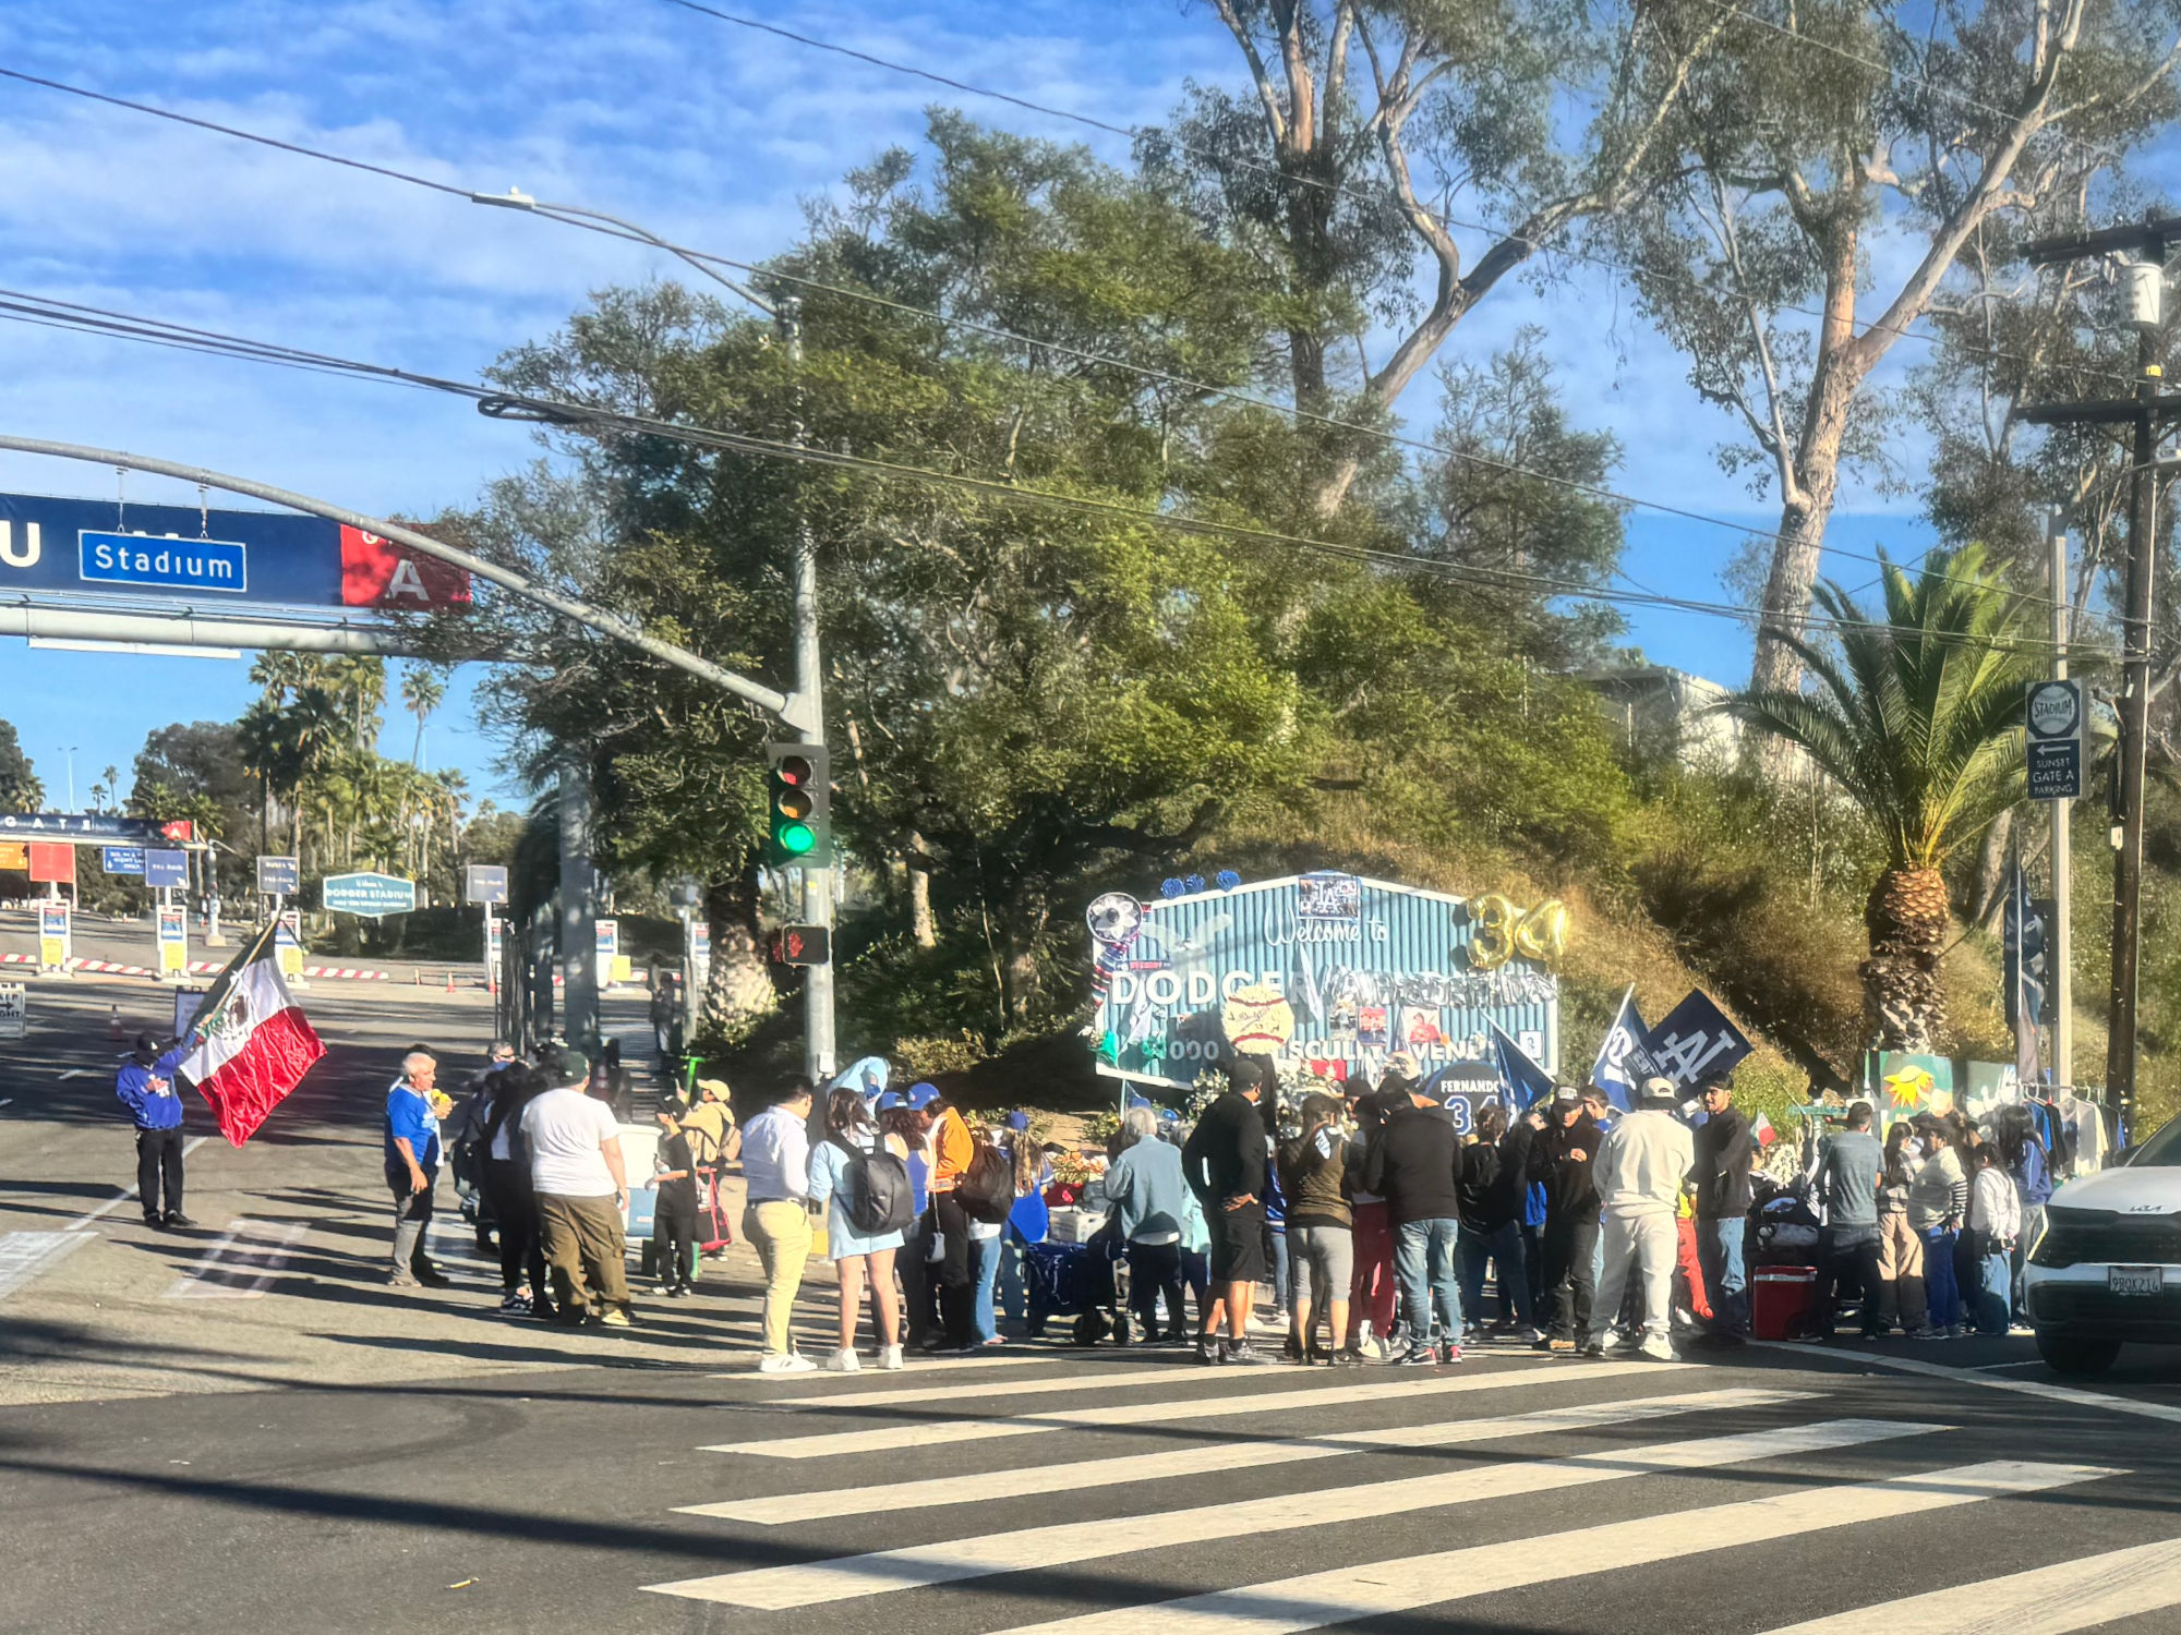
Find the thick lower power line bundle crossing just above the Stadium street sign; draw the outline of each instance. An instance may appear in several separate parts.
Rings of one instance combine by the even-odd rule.
[[[50,307],[41,318],[28,316]],[[984,493],[1008,501],[1029,501],[1051,508],[1067,508],[1080,512],[1097,512],[1108,517],[1123,517],[1136,523],[1165,528],[1171,532],[1206,534],[1217,538],[1234,538],[1245,543],[1267,543],[1300,547],[1324,556],[1346,558],[1352,562],[1365,562],[1374,567],[1429,573],[1457,584],[1477,584],[1481,589],[1527,589],[1538,595],[1562,595],[1588,602],[1610,602],[1627,606],[1664,606],[1684,613],[1697,613],[1708,617],[1727,617],[1736,621],[1758,621],[1762,619],[1760,608],[1745,608],[1738,604],[1723,602],[1699,602],[1692,597],[1673,597],[1655,591],[1625,593],[1607,591],[1601,586],[1586,584],[1581,580],[1566,580],[1544,573],[1529,573],[1520,569],[1498,569],[1479,567],[1461,562],[1444,562],[1429,556],[1413,556],[1400,552],[1381,552],[1367,545],[1350,545],[1343,541],[1326,541],[1309,534],[1289,534],[1269,528],[1254,528],[1245,523],[1224,523],[1206,517],[1184,517],[1178,512],[1130,506],[1117,499],[1099,499],[1095,495],[1071,495],[1053,488],[1029,488],[1016,482],[1005,482],[999,477],[975,477],[957,471],[933,471],[929,467],[903,464],[896,460],[877,460],[870,456],[846,453],[838,449],[818,449],[794,443],[779,443],[774,438],[755,436],[748,432],[720,432],[711,427],[691,427],[672,421],[654,421],[639,414],[622,414],[617,410],[600,410],[587,403],[565,403],[554,399],[532,399],[482,386],[478,382],[458,382],[438,375],[421,375],[406,368],[395,368],[390,364],[371,364],[347,358],[336,358],[332,353],[314,353],[294,347],[284,347],[279,342],[251,340],[244,336],[225,336],[220,331],[196,329],[185,325],[164,325],[157,318],[140,318],[133,314],[118,314],[105,307],[89,307],[74,301],[46,301],[35,294],[24,294],[15,290],[0,290],[0,318],[9,320],[33,320],[33,323],[57,323],[68,327],[79,327],[92,334],[105,334],[118,340],[150,340],[153,344],[188,344],[198,351],[222,351],[225,355],[238,358],[242,362],[297,362],[308,366],[327,368],[334,373],[351,373],[358,377],[423,386],[438,392],[449,392],[454,397],[465,397],[480,405],[480,410],[495,414],[499,419],[523,419],[539,421],[547,425],[558,425],[563,429],[615,429],[635,436],[661,436],[676,443],[687,443],[694,447],[722,449],[728,453],[746,453],[776,460],[792,460],[803,464],[822,464],[846,471],[864,471],[881,477],[899,477],[920,484],[955,486],[975,493]],[[161,342],[159,334],[172,331],[172,342]],[[1839,621],[1823,615],[1810,615],[1806,621],[1819,628],[1847,628],[1852,621]],[[1926,632],[1906,626],[1882,626],[1871,623],[1869,628],[1893,630],[1906,637],[1926,637]],[[2007,641],[2007,639],[1948,639],[1963,645],[1980,645],[2000,652],[2048,652],[2046,641]],[[2076,647],[2083,652],[2083,647]]]

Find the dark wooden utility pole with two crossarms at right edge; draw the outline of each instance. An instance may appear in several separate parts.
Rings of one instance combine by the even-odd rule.
[[[2017,410],[2035,425],[2129,425],[2129,573],[2120,610],[2120,748],[2113,767],[2113,988],[2105,1042],[2105,1083],[2118,1099],[2122,1140],[2135,1131],[2135,1020],[2144,894],[2144,767],[2150,739],[2150,600],[2157,569],[2157,453],[2181,399],[2159,395],[2159,323],[2166,251],[2181,240],[2181,216],[2148,218],[2078,238],[2024,246],[2031,266],[2126,255],[2129,320],[2135,325],[2135,392],[2092,403],[2041,403]],[[2059,595],[2055,595],[2059,600]],[[2057,916],[2055,916],[2057,918]]]

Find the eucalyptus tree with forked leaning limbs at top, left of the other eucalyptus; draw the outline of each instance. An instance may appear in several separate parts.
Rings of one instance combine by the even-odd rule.
[[[1293,405],[1365,425],[1511,272],[1653,185],[1688,74],[1732,15],[1710,0],[1204,4],[1248,89],[1193,87],[1141,153],[1280,290]],[[1330,514],[1372,443],[1304,427],[1311,504]]]

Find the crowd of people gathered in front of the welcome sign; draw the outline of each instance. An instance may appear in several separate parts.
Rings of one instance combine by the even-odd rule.
[[[164,1160],[157,1066],[137,1064],[126,1086],[150,1171]],[[1234,1057],[1226,1079],[1186,1127],[1130,1107],[1088,1188],[1056,1182],[1064,1149],[1040,1144],[1025,1114],[988,1125],[931,1083],[844,1075],[820,1092],[794,1077],[737,1127],[726,1086],[700,1079],[691,1101],[665,1097],[652,1173],[632,1179],[613,1064],[565,1046],[521,1062],[495,1042],[456,1105],[417,1046],[386,1099],[388,1282],[447,1282],[425,1247],[445,1160],[493,1232],[504,1315],[624,1328],[630,1188],[652,1199],[643,1271],[683,1299],[704,1249],[735,1236],[720,1177],[739,1160],[739,1234],[766,1282],[763,1373],[857,1371],[866,1312],[881,1369],[912,1349],[1003,1343],[1003,1317],[1027,1319],[1036,1245],[1062,1199],[1101,1212],[1084,1254],[1125,1267],[1101,1330],[1119,1343],[1193,1347],[1206,1365],[1448,1365],[1494,1341],[1664,1360],[1675,1330],[1747,1341],[1751,1245],[1775,1195],[1815,1227],[1815,1334],[1832,1336],[1843,1304],[1865,1336],[2007,1332],[2050,1195],[2044,1147],[2013,1110],[1985,1127],[1921,1114],[1880,1140],[1871,1105],[1847,1105],[1802,1184],[1782,1188],[1760,1184],[1727,1079],[1692,1101],[1651,1079],[1625,1110],[1596,1086],[1555,1086],[1527,1112],[1487,1101],[1472,1116],[1405,1057],[1374,1086],[1320,1083],[1287,1103],[1267,1057]],[[807,1358],[792,1315],[820,1240],[838,1334]],[[1285,1328],[1282,1349],[1261,1349],[1252,1323]]]

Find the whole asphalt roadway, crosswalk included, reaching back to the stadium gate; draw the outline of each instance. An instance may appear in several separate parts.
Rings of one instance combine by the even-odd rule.
[[[327,1062],[146,1232],[126,992],[37,990],[0,1057],[0,1631],[2181,1628],[2181,1354],[759,1378],[742,1249],[630,1334],[497,1319],[460,1232],[456,1288],[384,1286],[379,1099],[410,1040],[482,1049],[462,996],[314,992]]]

